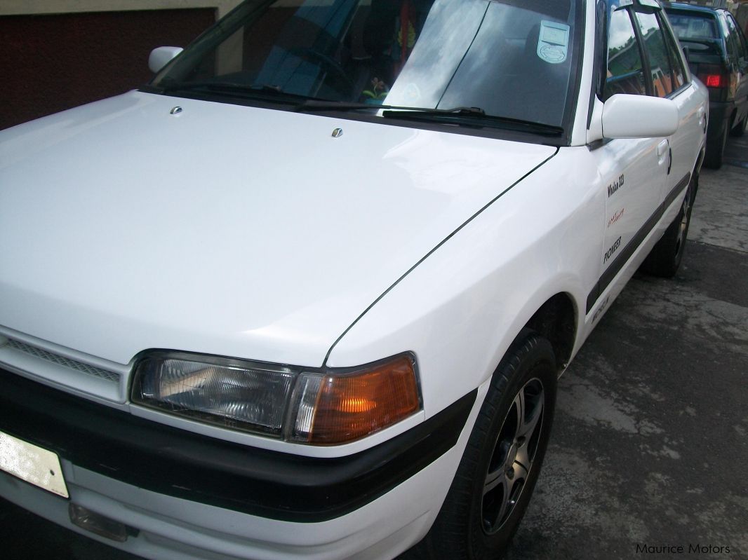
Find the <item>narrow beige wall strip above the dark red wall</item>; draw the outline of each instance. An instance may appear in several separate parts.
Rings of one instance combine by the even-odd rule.
[[[241,0],[1,0],[0,16],[212,7],[225,16]]]

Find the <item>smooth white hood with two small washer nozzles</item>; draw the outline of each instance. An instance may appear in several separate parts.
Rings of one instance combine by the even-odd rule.
[[[10,128],[0,326],[121,364],[161,348],[319,366],[554,152],[141,92]]]

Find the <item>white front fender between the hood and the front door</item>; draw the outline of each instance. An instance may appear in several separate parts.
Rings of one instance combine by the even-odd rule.
[[[584,309],[599,276],[605,204],[598,173],[579,172],[591,169],[581,161],[587,157],[586,147],[560,149],[496,199],[376,302],[331,349],[327,365],[411,350],[430,417],[489,379],[551,296],[568,293]],[[583,331],[577,328],[574,352]]]

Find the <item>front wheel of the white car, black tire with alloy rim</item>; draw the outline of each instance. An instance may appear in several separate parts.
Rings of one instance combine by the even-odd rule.
[[[422,558],[495,560],[503,553],[538,479],[556,387],[551,344],[525,329],[491,379],[447,499],[420,544]],[[519,412],[523,406],[529,415]]]

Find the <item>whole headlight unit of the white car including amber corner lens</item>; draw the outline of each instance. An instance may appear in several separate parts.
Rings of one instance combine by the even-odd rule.
[[[363,438],[421,406],[411,355],[310,371],[153,352],[135,368],[132,402],[224,428],[322,445]]]

